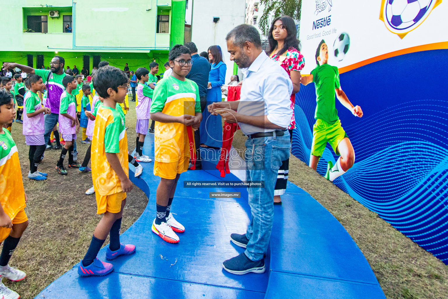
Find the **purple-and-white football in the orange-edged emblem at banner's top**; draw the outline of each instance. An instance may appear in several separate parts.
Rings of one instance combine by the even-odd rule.
[[[386,0],[385,23],[396,34],[406,34],[420,25],[434,8],[436,0]]]

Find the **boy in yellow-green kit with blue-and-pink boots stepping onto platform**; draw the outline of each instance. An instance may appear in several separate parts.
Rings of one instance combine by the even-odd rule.
[[[113,271],[113,265],[96,257],[110,234],[106,259],[135,252],[134,245],[120,243],[120,227],[126,192],[132,190],[129,180],[128,142],[124,115],[117,111],[117,103],[123,103],[128,78],[120,69],[104,66],[94,78],[97,94],[103,98],[99,106],[91,143],[92,181],[95,188],[97,213],[104,213],[92,236],[86,256],[78,267],[81,276],[103,276]]]

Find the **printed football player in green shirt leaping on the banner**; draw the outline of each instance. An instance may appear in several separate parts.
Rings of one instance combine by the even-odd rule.
[[[342,91],[337,67],[328,65],[328,49],[324,40],[319,43],[316,50],[316,63],[317,66],[311,71],[310,76],[302,77],[300,81],[303,85],[314,82],[316,87],[317,106],[314,114],[316,123],[313,126],[310,167],[314,170],[317,169],[323,150],[327,142],[330,143],[336,155],[340,155],[336,165],[328,161],[325,178],[333,182],[335,178],[346,173],[355,161],[352,143],[340,125],[335,106],[335,95],[354,116],[362,117],[362,110],[359,106],[353,106],[345,92]]]

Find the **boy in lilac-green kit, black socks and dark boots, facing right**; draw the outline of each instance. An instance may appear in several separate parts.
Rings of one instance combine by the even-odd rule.
[[[81,165],[73,161],[73,144],[76,140],[76,134],[79,131],[79,121],[76,117],[76,99],[72,95],[73,89],[76,88],[76,80],[72,76],[66,76],[62,79],[65,91],[60,95],[59,108],[59,131],[65,141],[65,145],[60,153],[56,170],[59,174],[66,175],[67,170],[64,167],[64,158],[69,152],[69,168],[79,168]]]

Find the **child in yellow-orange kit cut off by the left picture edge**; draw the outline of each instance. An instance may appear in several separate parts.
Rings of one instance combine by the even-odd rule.
[[[9,266],[8,262],[28,226],[25,214],[27,197],[23,189],[17,147],[11,133],[1,126],[13,121],[16,112],[11,93],[0,90],[0,275],[17,282],[26,277],[25,272]],[[0,298],[19,298],[0,280]]]

